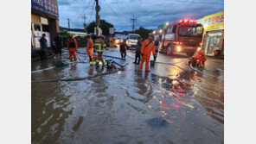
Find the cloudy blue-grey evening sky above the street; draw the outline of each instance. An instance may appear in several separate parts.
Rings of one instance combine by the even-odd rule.
[[[95,21],[95,0],[58,0],[61,27],[83,28]],[[94,9],[93,9],[94,3]],[[99,0],[100,19],[110,22],[116,31],[131,31],[131,17],[135,16],[135,28],[157,28],[164,22],[182,18],[200,19],[224,9],[224,0]],[[91,15],[92,14],[92,15]]]

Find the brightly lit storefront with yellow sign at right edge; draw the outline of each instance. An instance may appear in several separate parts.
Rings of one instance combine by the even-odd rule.
[[[210,56],[224,56],[224,11],[203,17],[202,50]]]

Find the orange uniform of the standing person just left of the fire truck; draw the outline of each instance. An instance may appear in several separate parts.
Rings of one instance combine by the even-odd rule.
[[[154,55],[156,54],[156,47],[155,47],[154,41],[150,41],[150,39],[145,40],[143,42],[143,45],[141,47],[140,52],[144,53],[144,56],[142,56],[142,58],[141,58],[141,62],[140,62],[140,66],[139,66],[139,71],[142,71],[143,65],[144,65],[144,61],[145,61],[145,71],[150,71],[149,62],[150,62],[151,52],[153,52]]]

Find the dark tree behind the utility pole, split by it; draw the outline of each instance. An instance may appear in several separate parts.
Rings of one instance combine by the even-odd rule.
[[[88,27],[86,28],[88,33],[94,33],[94,28],[96,27],[95,21],[91,22]],[[113,28],[114,26],[109,23],[106,22],[105,20],[100,20],[100,25],[99,28],[102,29],[102,34],[104,35],[109,35],[109,28]]]

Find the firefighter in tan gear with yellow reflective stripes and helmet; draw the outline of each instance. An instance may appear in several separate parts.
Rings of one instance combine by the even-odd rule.
[[[97,37],[97,39],[95,40],[95,44],[93,46],[93,49],[97,52],[98,54],[98,58],[96,60],[96,64],[95,66],[99,67],[99,61],[102,62],[102,65],[105,65],[105,60],[102,57],[103,54],[103,48],[105,48],[106,50],[108,50],[108,48],[106,47],[106,44],[104,42],[104,36],[103,35],[99,35]]]

